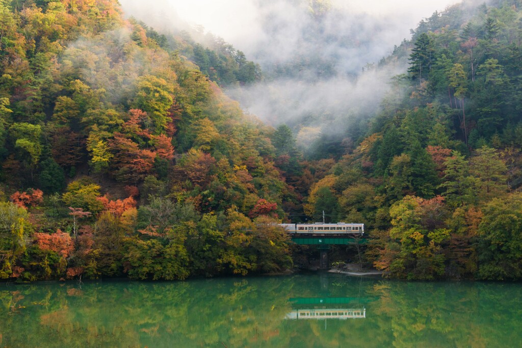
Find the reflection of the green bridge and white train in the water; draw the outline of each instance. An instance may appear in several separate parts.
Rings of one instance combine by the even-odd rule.
[[[366,318],[366,308],[360,298],[290,298],[292,311],[286,319],[362,319]],[[304,307],[304,308],[303,308]]]

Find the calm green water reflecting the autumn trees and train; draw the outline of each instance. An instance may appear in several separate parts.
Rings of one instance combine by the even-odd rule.
[[[6,285],[0,346],[519,347],[521,290],[338,274]]]

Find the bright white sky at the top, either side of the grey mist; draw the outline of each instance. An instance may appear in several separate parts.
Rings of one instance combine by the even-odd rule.
[[[262,32],[259,4],[273,0],[120,0],[126,13],[136,17],[151,15],[158,20],[182,18],[190,24],[201,25],[207,31],[222,37],[235,47],[248,53],[253,35]],[[460,3],[456,0],[333,0],[333,5],[347,8],[354,14],[366,14],[377,18],[396,18],[393,25],[394,44],[409,38],[409,31],[434,11]],[[152,5],[151,5],[152,4]]]

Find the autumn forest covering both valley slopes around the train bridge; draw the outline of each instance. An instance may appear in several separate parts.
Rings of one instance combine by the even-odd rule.
[[[0,278],[280,272],[306,250],[274,223],[324,210],[366,225],[386,277],[520,279],[521,10],[422,20],[368,67],[408,66],[379,110],[303,151],[223,92],[264,77],[220,38],[116,0],[0,0]]]

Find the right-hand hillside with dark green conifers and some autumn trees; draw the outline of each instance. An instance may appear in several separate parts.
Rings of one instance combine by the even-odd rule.
[[[367,223],[366,257],[390,277],[520,278],[521,8],[421,21],[379,63],[409,68],[390,76],[369,132],[312,185],[309,211],[329,197],[330,215]]]

